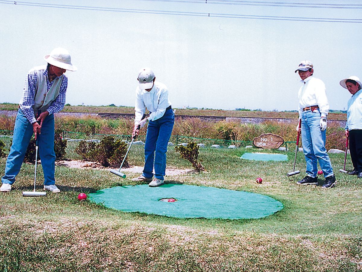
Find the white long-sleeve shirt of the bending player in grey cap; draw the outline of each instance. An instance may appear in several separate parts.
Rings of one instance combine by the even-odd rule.
[[[171,106],[168,100],[168,89],[163,83],[155,81],[151,91],[140,90],[136,88],[136,106],[135,106],[135,124],[141,119],[146,112],[146,108],[151,112],[148,120],[155,121],[160,119]]]

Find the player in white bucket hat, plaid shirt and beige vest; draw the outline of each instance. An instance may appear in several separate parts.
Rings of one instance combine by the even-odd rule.
[[[48,63],[31,69],[14,125],[13,141],[1,178],[0,191],[11,191],[19,173],[30,139],[35,135],[44,172],[44,190],[58,193],[55,185],[54,113],[63,109],[68,78],[66,70],[76,71],[66,49],[56,48],[44,57]]]

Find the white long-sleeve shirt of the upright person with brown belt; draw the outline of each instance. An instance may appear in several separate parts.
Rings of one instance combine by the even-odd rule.
[[[318,106],[321,117],[326,117],[329,111],[329,104],[323,81],[313,77],[307,77],[301,81],[303,86],[298,92],[299,98],[299,119],[302,118],[303,108]]]

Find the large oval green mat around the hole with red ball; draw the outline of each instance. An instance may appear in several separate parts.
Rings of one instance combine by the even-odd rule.
[[[160,201],[164,198],[177,201]],[[281,202],[266,195],[181,184],[117,186],[90,193],[88,199],[125,212],[176,218],[262,218],[283,209]]]

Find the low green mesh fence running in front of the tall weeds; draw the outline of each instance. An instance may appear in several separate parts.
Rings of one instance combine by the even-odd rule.
[[[12,136],[13,131],[0,130],[0,135],[4,136]],[[93,134],[89,135],[82,132],[72,132],[72,131],[63,131],[63,139],[73,140],[73,141],[81,141],[81,140],[99,140],[101,141],[105,136],[113,136],[114,139],[125,140],[130,142],[132,140],[131,135],[110,135],[110,134]],[[146,136],[138,136],[138,141],[146,141]],[[189,137],[189,136],[180,136],[180,135],[172,135],[169,142],[174,145],[182,144],[182,143],[197,143],[204,144],[205,147],[211,147],[211,145],[220,145],[222,148],[227,148],[230,145],[235,145],[235,147],[246,147],[247,145],[253,145],[253,141],[236,141],[236,140],[220,140],[220,139],[205,139],[205,138],[197,138],[197,137]],[[286,141],[283,146],[287,149],[292,148],[295,149],[296,141]],[[293,145],[294,144],[294,145]]]

